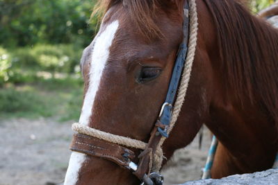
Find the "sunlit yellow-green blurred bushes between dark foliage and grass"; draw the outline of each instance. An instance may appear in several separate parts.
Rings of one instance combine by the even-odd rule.
[[[0,87],[7,82],[19,84],[78,74],[81,53],[82,49],[72,44],[38,44],[15,50],[0,47]]]

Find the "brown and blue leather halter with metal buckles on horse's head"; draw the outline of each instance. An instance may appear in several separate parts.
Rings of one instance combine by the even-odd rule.
[[[188,37],[189,37],[189,6],[188,1],[184,5],[184,19],[183,19],[183,42],[179,46],[177,59],[172,71],[170,85],[168,87],[165,103],[161,107],[161,112],[154,124],[151,132],[149,142],[145,150],[140,152],[136,157],[135,153],[123,146],[97,139],[92,136],[84,134],[74,134],[70,150],[81,152],[93,157],[100,157],[113,161],[123,168],[128,168],[133,172],[142,184],[160,185],[163,184],[163,177],[158,173],[150,173],[152,168],[152,157],[156,152],[159,141],[162,137],[168,137],[167,129],[170,126],[170,119],[172,116],[172,105],[176,98],[181,73],[186,61],[188,51]],[[133,161],[138,161],[136,165]]]

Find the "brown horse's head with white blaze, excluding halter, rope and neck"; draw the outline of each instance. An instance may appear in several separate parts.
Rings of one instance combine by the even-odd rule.
[[[85,93],[79,123],[147,143],[183,39],[183,3],[111,1],[106,5],[99,33],[83,51]],[[204,39],[199,40],[205,51]],[[163,145],[167,159],[174,150],[193,140],[207,116],[210,91],[206,88],[209,84],[206,57],[202,53],[195,59],[186,104]],[[196,91],[201,93],[195,94]],[[131,150],[138,155],[138,150]],[[79,152],[72,153],[65,182],[139,184],[129,170]]]

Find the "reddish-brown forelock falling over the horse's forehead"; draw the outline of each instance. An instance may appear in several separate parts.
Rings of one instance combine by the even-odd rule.
[[[181,12],[184,0],[174,0],[172,3],[175,3],[175,11],[177,8]],[[120,5],[126,10],[131,17],[134,24],[136,24],[139,32],[146,39],[162,38],[164,37],[161,29],[158,27],[155,18],[158,15],[163,7],[169,9],[170,1],[166,0],[99,0],[92,12],[92,17],[99,15],[99,18],[102,19],[105,13],[112,7]],[[181,15],[182,16],[182,15]]]

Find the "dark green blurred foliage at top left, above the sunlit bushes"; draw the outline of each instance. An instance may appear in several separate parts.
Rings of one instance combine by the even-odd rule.
[[[0,43],[88,45],[97,28],[91,21],[92,0],[0,0]]]

